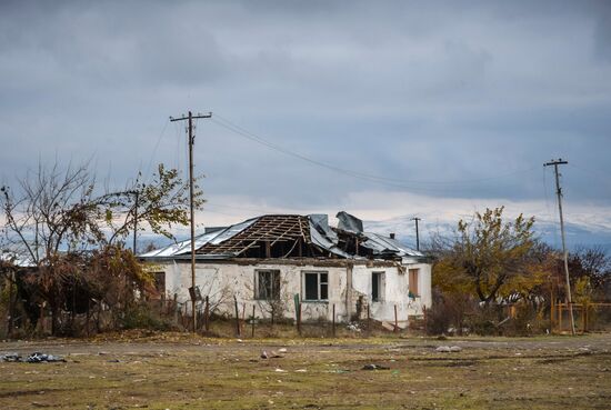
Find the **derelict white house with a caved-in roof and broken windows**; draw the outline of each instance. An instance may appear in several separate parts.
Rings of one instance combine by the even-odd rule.
[[[233,297],[254,304],[257,317],[271,308],[303,320],[364,318],[393,321],[421,316],[431,304],[431,264],[420,252],[390,237],[363,231],[345,212],[332,228],[327,214],[267,214],[196,237],[196,286],[221,313],[232,312]],[[191,242],[140,256],[153,262],[160,290],[190,300]]]

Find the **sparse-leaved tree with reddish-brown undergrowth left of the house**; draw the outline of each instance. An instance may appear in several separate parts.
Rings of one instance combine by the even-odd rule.
[[[59,313],[77,309],[77,293],[107,307],[126,307],[136,294],[153,289],[134,254],[124,249],[137,220],[139,230],[168,238],[173,238],[173,224],[189,220],[188,184],[162,164],[151,182],[137,180],[121,190],[101,188],[86,166],[62,169],[57,163],[39,166],[17,189],[0,190],[1,238],[14,262],[9,264],[20,269],[28,299],[51,311],[53,333]],[[194,187],[194,207],[202,203]],[[0,274],[13,272],[4,268]]]

